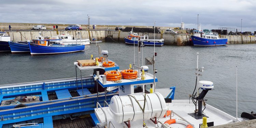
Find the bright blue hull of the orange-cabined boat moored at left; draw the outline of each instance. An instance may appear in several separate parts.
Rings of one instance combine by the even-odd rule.
[[[41,46],[37,44],[29,44],[30,54],[31,55],[47,55],[47,54],[64,54],[79,52],[84,50],[85,45],[63,45],[63,46]]]

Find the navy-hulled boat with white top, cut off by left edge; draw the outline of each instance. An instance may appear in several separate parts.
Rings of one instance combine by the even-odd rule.
[[[0,52],[10,52],[8,41],[11,41],[10,36],[5,35],[6,32],[0,32]]]

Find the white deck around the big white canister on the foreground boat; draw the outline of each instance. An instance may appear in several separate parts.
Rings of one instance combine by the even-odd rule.
[[[191,124],[194,124],[195,128],[199,128],[199,124],[202,123],[202,119],[195,119],[194,117],[188,115],[189,113],[194,113],[194,110],[195,110],[195,105],[192,103],[192,101],[189,103],[189,100],[173,100],[172,103],[166,103],[166,104],[167,104],[167,107],[169,110],[173,110],[173,112],[175,112],[177,115],[182,116],[183,118],[188,120],[188,122],[190,122]],[[116,128],[121,128],[121,127],[125,126],[124,123],[118,124],[115,122],[113,114],[110,111],[109,107],[104,107],[103,110],[106,113],[108,124],[109,124],[109,121],[111,121]],[[95,114],[100,123],[105,122],[104,113],[100,108],[95,109]],[[172,119],[181,119],[176,114],[172,113],[171,118]],[[221,110],[218,110],[218,109],[212,107],[211,105],[206,105],[206,109],[203,111],[203,114],[208,116],[207,122],[214,122],[214,126],[233,123],[236,120],[236,118],[230,116],[229,114],[227,114]],[[158,121],[164,123],[166,120],[169,120],[169,119],[170,119],[170,116],[168,116],[167,118],[164,118],[164,117],[159,118]],[[131,128],[142,128],[142,122],[143,122],[142,119],[137,120],[135,122],[131,121]],[[145,120],[145,123],[148,128],[157,127],[151,120]],[[175,128],[177,128],[177,127],[185,128],[186,127],[183,124],[177,124],[177,123],[171,124],[170,126],[175,127]],[[161,127],[160,123],[158,123],[158,127]]]

